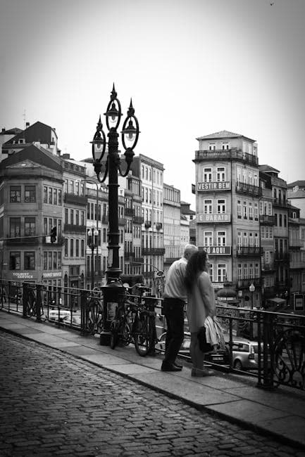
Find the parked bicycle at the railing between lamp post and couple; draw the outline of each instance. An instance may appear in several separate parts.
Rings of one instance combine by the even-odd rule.
[[[122,345],[133,342],[139,356],[146,356],[154,349],[156,342],[155,313],[143,295],[150,288],[143,284],[135,284],[133,288],[139,290],[139,295],[125,292],[111,322],[110,345],[114,349],[119,342]]]

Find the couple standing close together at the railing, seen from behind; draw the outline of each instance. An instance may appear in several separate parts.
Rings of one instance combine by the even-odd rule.
[[[186,245],[183,257],[168,270],[164,289],[163,312],[166,316],[166,352],[161,371],[181,371],[176,357],[184,339],[184,307],[191,333],[192,376],[213,374],[204,368],[204,353],[199,348],[198,333],[207,316],[216,312],[213,287],[208,276],[208,254],[195,245]]]

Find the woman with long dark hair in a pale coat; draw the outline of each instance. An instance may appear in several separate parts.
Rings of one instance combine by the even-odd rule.
[[[199,348],[198,332],[204,326],[207,316],[216,313],[214,290],[208,276],[208,254],[197,251],[187,262],[185,287],[187,289],[187,320],[191,333],[190,353],[192,376],[212,375],[213,371],[204,368],[204,353]]]

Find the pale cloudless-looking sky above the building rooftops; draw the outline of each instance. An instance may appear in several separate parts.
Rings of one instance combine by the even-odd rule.
[[[0,0],[0,129],[44,122],[62,153],[91,157],[114,83],[136,155],[193,210],[197,138],[216,131],[304,180],[304,20],[305,0]]]

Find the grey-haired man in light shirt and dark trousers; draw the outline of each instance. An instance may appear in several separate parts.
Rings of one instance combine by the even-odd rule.
[[[181,371],[182,366],[175,363],[179,349],[184,339],[184,307],[187,301],[185,289],[185,270],[187,260],[196,252],[195,245],[186,245],[183,257],[170,265],[166,276],[163,294],[163,312],[166,316],[166,352],[161,365],[161,371]]]

